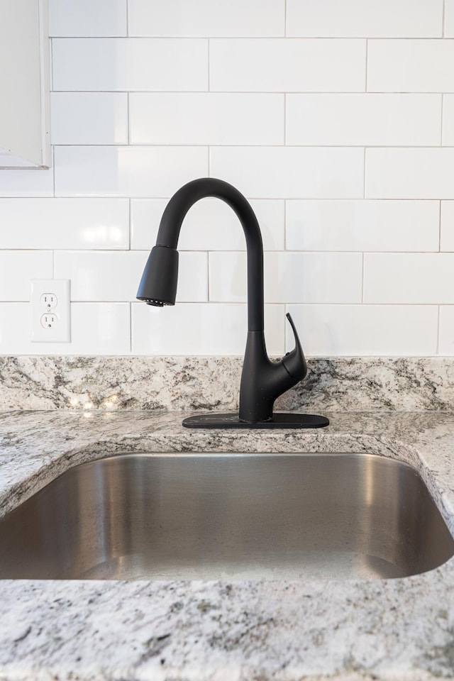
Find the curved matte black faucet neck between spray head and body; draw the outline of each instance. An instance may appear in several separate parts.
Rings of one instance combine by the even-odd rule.
[[[226,202],[238,216],[248,251],[248,331],[263,331],[263,245],[253,209],[238,189],[214,177],[188,182],[178,190],[162,214],[156,245],[177,248],[179,231],[187,211],[196,201],[214,196]]]

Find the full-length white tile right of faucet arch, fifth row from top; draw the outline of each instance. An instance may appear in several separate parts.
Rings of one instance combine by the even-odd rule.
[[[439,221],[439,201],[287,201],[286,248],[437,251]]]

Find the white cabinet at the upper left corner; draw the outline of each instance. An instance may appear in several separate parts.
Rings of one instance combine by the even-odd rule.
[[[0,167],[50,166],[48,0],[0,0]]]

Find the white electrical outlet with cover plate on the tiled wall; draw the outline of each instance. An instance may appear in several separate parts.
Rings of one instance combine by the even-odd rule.
[[[31,340],[70,343],[70,279],[31,280]]]

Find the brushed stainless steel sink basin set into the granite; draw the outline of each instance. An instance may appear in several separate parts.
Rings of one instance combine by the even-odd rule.
[[[453,554],[418,473],[365,454],[117,455],[0,521],[3,579],[387,579]]]

